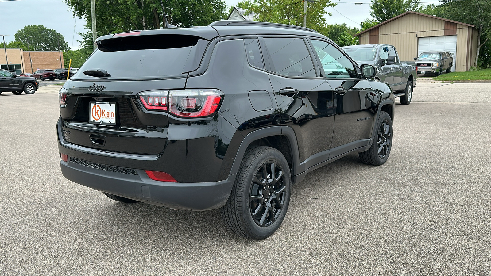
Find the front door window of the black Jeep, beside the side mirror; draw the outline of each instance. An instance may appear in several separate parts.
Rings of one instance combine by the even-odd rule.
[[[341,51],[331,44],[310,40],[321,60],[327,78],[356,78],[355,66]]]

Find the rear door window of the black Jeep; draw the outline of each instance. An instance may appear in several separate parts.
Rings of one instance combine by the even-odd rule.
[[[284,76],[317,77],[312,58],[301,38],[264,38],[270,70]]]

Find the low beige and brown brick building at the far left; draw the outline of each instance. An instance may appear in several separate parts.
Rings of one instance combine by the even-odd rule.
[[[64,68],[63,52],[58,51],[23,51],[22,49],[0,49],[0,68],[15,70],[17,75],[21,73],[33,73],[39,69]],[[61,55],[61,63],[60,63]],[[8,59],[8,66],[7,66]],[[32,66],[32,67],[31,67]],[[32,68],[32,70],[31,70]]]

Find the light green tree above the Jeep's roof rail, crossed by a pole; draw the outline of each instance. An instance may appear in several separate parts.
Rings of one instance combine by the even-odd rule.
[[[303,1],[301,0],[244,0],[240,7],[255,13],[255,21],[303,26]],[[307,28],[322,31],[326,26],[324,16],[331,15],[327,7],[336,3],[330,0],[307,2]]]

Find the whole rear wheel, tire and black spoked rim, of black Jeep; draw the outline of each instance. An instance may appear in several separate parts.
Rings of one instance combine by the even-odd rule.
[[[271,177],[273,168],[275,173]],[[291,183],[290,167],[281,152],[272,147],[251,146],[220,212],[235,233],[249,239],[265,239],[285,218]]]

